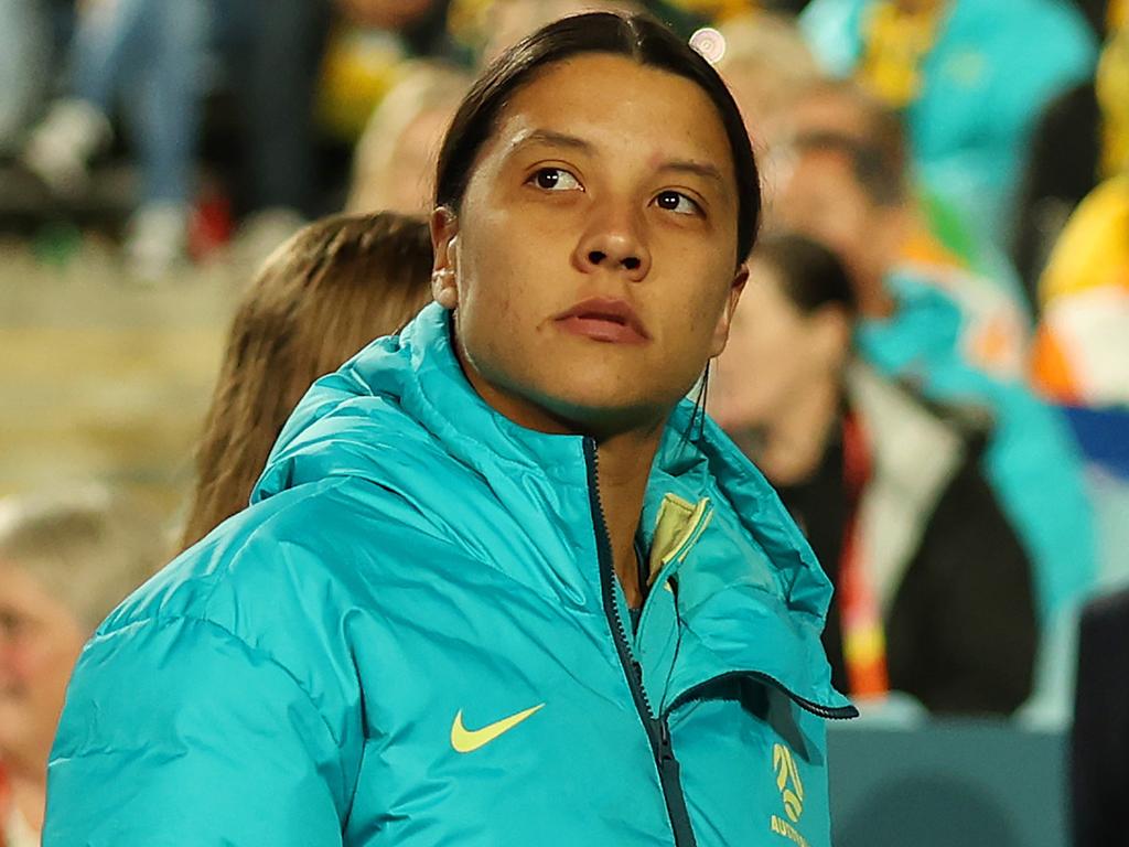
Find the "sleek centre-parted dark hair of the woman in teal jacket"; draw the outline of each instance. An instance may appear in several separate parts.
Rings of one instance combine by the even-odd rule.
[[[717,108],[729,140],[737,180],[737,262],[756,239],[760,175],[741,111],[717,71],[689,44],[646,15],[574,15],[542,27],[502,53],[471,87],[443,142],[436,173],[436,206],[456,212],[479,151],[514,94],[550,64],[581,53],[611,53],[694,82]]]

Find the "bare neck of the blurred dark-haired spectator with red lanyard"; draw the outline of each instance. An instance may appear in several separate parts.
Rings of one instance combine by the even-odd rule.
[[[809,384],[780,408],[764,427],[756,463],[777,486],[809,479],[820,466],[839,419],[839,384],[833,375]]]

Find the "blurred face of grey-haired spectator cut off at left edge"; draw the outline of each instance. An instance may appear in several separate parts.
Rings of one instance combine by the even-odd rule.
[[[81,626],[23,568],[0,562],[0,757],[46,767]]]

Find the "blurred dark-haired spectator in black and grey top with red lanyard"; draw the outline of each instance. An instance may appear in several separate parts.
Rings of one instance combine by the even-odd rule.
[[[711,412],[776,487],[835,586],[824,646],[852,697],[1009,714],[1036,644],[1026,555],[980,470],[982,438],[851,353],[855,291],[803,236],[765,239]]]

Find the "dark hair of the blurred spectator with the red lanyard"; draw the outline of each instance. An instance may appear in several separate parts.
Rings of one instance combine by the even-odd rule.
[[[781,290],[805,315],[824,306],[837,306],[849,315],[858,311],[843,263],[833,251],[806,235],[770,235],[756,245],[753,257],[777,272]]]

